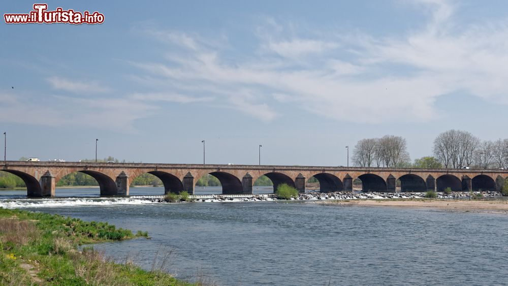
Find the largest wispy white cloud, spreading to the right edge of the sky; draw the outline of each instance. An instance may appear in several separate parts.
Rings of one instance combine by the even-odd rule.
[[[286,33],[283,24],[271,19],[272,31],[256,33],[265,51],[261,54],[232,60],[223,50],[185,34],[175,40],[187,47],[184,56],[176,53],[167,56],[168,61],[136,66],[193,90],[202,86],[217,102],[246,114],[259,109],[265,113],[259,116],[263,120],[284,115],[277,103],[370,123],[431,121],[439,117],[436,100],[457,91],[508,103],[508,25],[458,25],[451,2],[417,3],[431,11],[428,23],[404,35],[300,36],[291,29]],[[252,95],[248,99],[231,96],[246,89]],[[191,96],[193,90],[183,87],[181,96]]]

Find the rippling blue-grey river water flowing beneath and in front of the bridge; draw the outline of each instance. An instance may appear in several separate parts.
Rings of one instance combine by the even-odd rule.
[[[57,189],[62,197],[91,193],[98,189]],[[202,273],[220,285],[508,283],[508,216],[501,214],[315,202],[23,200],[24,194],[0,192],[0,206],[148,231],[149,240],[94,247],[119,260],[135,257],[148,270],[157,252],[171,252],[168,270],[184,279]],[[13,196],[21,200],[9,203]]]

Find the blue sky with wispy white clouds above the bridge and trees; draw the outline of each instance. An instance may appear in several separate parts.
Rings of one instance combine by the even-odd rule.
[[[0,4],[28,13],[34,2]],[[504,1],[49,1],[100,25],[0,24],[8,160],[346,165],[386,134],[508,137]],[[14,86],[14,89],[11,88]],[[3,145],[3,144],[2,144]]]

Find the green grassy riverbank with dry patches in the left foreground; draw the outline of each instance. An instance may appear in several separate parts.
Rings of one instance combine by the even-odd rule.
[[[81,244],[147,236],[107,223],[0,208],[0,284],[189,285],[163,271],[116,264]]]

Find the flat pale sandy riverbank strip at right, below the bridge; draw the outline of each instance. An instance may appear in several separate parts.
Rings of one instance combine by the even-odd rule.
[[[351,201],[321,201],[325,205],[357,205],[366,207],[412,207],[435,208],[446,211],[488,212],[508,214],[508,201],[469,201],[469,200],[351,200]]]

